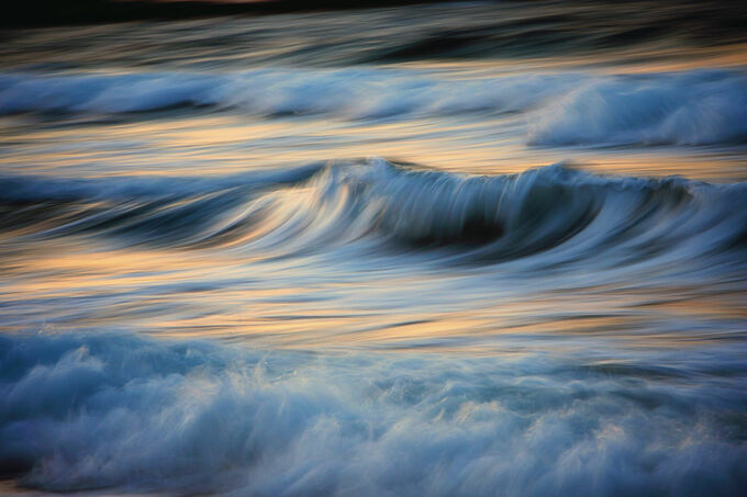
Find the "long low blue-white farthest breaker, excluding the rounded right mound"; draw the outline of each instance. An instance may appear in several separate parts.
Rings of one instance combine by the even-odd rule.
[[[346,118],[524,110],[573,75],[444,79],[395,69],[256,69],[230,74],[0,76],[0,115],[20,112],[118,114],[189,106],[265,116]]]

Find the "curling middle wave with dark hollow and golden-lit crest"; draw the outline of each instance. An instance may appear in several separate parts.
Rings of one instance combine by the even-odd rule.
[[[5,178],[2,185],[0,233],[27,240],[94,236],[274,255],[375,244],[475,261],[550,252],[556,263],[738,258],[747,241],[745,183],[600,177],[561,165],[483,177],[374,158],[200,181]]]

